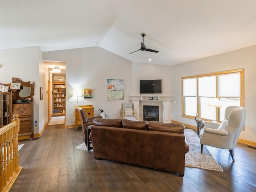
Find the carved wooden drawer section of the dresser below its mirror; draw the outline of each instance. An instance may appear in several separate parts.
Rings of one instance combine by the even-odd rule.
[[[14,114],[18,114],[20,118],[20,132],[18,139],[23,140],[33,138],[33,102],[12,104],[12,116]]]

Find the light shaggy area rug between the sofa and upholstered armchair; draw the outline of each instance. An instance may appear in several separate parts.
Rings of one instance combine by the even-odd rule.
[[[185,129],[189,151],[185,155],[185,166],[200,169],[208,169],[223,172],[221,166],[216,162],[209,150],[204,146],[201,154],[201,144],[198,135],[189,129]]]

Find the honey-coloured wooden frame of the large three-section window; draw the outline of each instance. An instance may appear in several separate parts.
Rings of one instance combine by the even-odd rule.
[[[200,74],[200,75],[194,75],[194,76],[186,76],[181,78],[181,97],[182,97],[182,117],[183,118],[189,118],[189,119],[194,119],[195,116],[190,116],[186,115],[185,113],[185,96],[183,96],[183,80],[184,79],[189,79],[189,78],[196,78],[196,111],[197,111],[197,118],[201,118],[200,114],[200,97],[198,96],[198,78],[199,77],[207,77],[207,76],[215,76],[216,77],[216,95],[215,97],[218,98],[218,78],[217,76],[220,74],[232,74],[232,73],[240,73],[240,106],[244,107],[244,68],[241,69],[236,69],[236,70],[227,70],[227,71],[221,71],[221,72],[213,72],[213,73],[208,73],[208,74]],[[221,97],[223,98],[223,97]],[[238,98],[238,97],[228,97],[228,98]],[[219,108],[216,108],[216,117],[217,117],[217,122],[221,122],[218,117],[219,117]],[[202,120],[207,120],[211,121],[210,119],[205,119],[201,118]]]

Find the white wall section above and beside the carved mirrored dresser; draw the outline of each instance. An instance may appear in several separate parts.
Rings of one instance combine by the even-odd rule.
[[[22,81],[34,81],[34,121],[39,120],[39,59],[42,54],[40,48],[18,48],[0,50],[0,82],[11,83],[12,78],[20,78]],[[42,57],[42,56],[41,56]],[[32,122],[34,124],[34,122]],[[39,125],[39,124],[38,124]],[[36,132],[34,126],[34,133]]]

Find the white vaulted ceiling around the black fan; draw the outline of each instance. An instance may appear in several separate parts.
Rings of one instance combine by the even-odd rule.
[[[256,0],[0,0],[0,49],[100,46],[172,66],[255,45],[255,8]],[[159,53],[129,54],[141,33]]]

